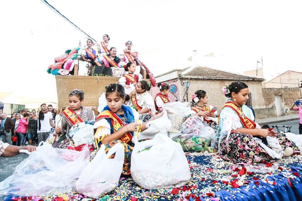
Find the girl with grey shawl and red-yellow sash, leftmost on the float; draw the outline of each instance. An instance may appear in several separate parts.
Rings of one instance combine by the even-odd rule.
[[[82,106],[84,102],[84,92],[74,89],[68,96],[69,107],[66,108],[60,115],[56,115],[55,133],[50,138],[49,143],[52,143],[55,148],[67,149],[72,144],[72,139],[69,137],[70,128],[81,122],[95,119],[94,111]]]

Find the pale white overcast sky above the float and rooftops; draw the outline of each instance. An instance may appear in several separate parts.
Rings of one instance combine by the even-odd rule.
[[[187,67],[182,63],[193,50],[223,55],[229,62],[215,68],[228,71],[255,69],[261,56],[271,72],[301,71],[300,1],[48,2],[97,41],[106,33],[122,50],[131,40],[155,75]],[[47,67],[86,36],[39,0],[2,1],[0,9],[0,91],[33,90],[56,99]]]

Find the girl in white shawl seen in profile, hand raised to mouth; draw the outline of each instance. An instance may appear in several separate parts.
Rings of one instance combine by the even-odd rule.
[[[139,119],[143,122],[149,121],[154,117],[156,110],[152,96],[148,92],[151,89],[149,83],[145,80],[139,81],[129,96],[127,105],[134,107],[140,114]]]

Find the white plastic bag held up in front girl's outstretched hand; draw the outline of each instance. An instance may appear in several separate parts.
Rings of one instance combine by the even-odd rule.
[[[171,121],[168,119],[167,112],[164,110],[162,111],[164,114],[162,117],[149,121],[146,124],[147,129],[144,130],[141,134],[145,135],[154,135],[156,133],[159,133],[162,130],[169,130],[172,126]]]

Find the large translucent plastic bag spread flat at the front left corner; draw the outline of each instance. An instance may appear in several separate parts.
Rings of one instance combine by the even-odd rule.
[[[76,187],[76,180],[89,163],[88,147],[79,152],[41,143],[13,175],[0,183],[0,200],[8,195],[58,195]]]

